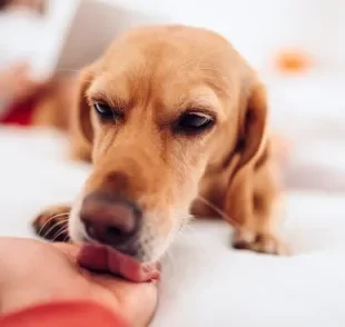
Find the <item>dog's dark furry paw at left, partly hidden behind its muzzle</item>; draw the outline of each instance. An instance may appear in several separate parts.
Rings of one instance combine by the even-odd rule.
[[[36,234],[51,241],[69,241],[70,210],[69,206],[56,206],[42,211],[32,222]]]

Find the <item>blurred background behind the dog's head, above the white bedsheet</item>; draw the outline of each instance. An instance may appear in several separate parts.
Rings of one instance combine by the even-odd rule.
[[[66,129],[61,112],[76,75],[122,31],[147,23],[206,27],[267,83],[286,185],[344,191],[345,2],[179,1],[0,0],[2,130]]]

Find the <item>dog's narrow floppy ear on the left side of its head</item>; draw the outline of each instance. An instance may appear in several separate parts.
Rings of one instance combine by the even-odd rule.
[[[70,126],[72,157],[82,160],[90,160],[93,139],[90,107],[86,97],[92,79],[92,68],[83,69],[79,75]]]

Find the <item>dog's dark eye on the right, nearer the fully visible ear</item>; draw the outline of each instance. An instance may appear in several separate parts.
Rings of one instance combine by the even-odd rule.
[[[204,112],[188,112],[178,120],[177,128],[185,132],[198,132],[211,127],[213,123],[214,119],[210,115]]]

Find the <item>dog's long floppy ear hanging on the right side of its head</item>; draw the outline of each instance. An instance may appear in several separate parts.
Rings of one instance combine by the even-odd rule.
[[[269,157],[267,142],[266,89],[258,83],[243,97],[239,112],[237,148],[233,174],[228,182],[225,209],[238,224],[246,224],[254,215],[256,170]],[[253,219],[252,219],[253,220]]]

